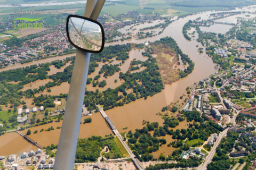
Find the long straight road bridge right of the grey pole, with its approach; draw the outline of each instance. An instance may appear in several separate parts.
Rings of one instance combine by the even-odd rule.
[[[103,118],[105,118],[105,121],[108,123],[110,129],[113,131],[113,133],[117,136],[117,138],[121,141],[123,144],[124,148],[127,150],[129,153],[130,157],[132,158],[132,162],[135,164],[135,166],[139,169],[142,170],[144,167],[142,166],[141,162],[139,159],[135,158],[135,155],[132,153],[131,149],[127,146],[125,141],[122,138],[122,135],[118,132],[118,130],[115,128],[114,123],[110,120],[110,118],[107,116],[107,114],[103,111],[103,108],[100,107],[100,105],[97,105],[99,108],[100,114],[102,115]]]

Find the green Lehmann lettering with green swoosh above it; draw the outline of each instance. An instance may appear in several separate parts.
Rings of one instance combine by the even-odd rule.
[[[22,20],[22,23],[19,23],[18,27],[16,27],[16,21],[14,21],[14,29],[23,29],[23,28],[37,29],[37,28],[44,28],[44,24],[43,23],[23,23],[23,21],[34,22],[34,21],[41,20],[42,18],[37,18],[37,19],[33,19],[33,18],[16,18],[14,20]]]

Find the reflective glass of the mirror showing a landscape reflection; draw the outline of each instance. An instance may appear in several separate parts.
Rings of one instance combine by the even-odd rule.
[[[82,18],[70,17],[68,21],[69,38],[76,46],[99,51],[102,46],[102,32],[97,23]]]

